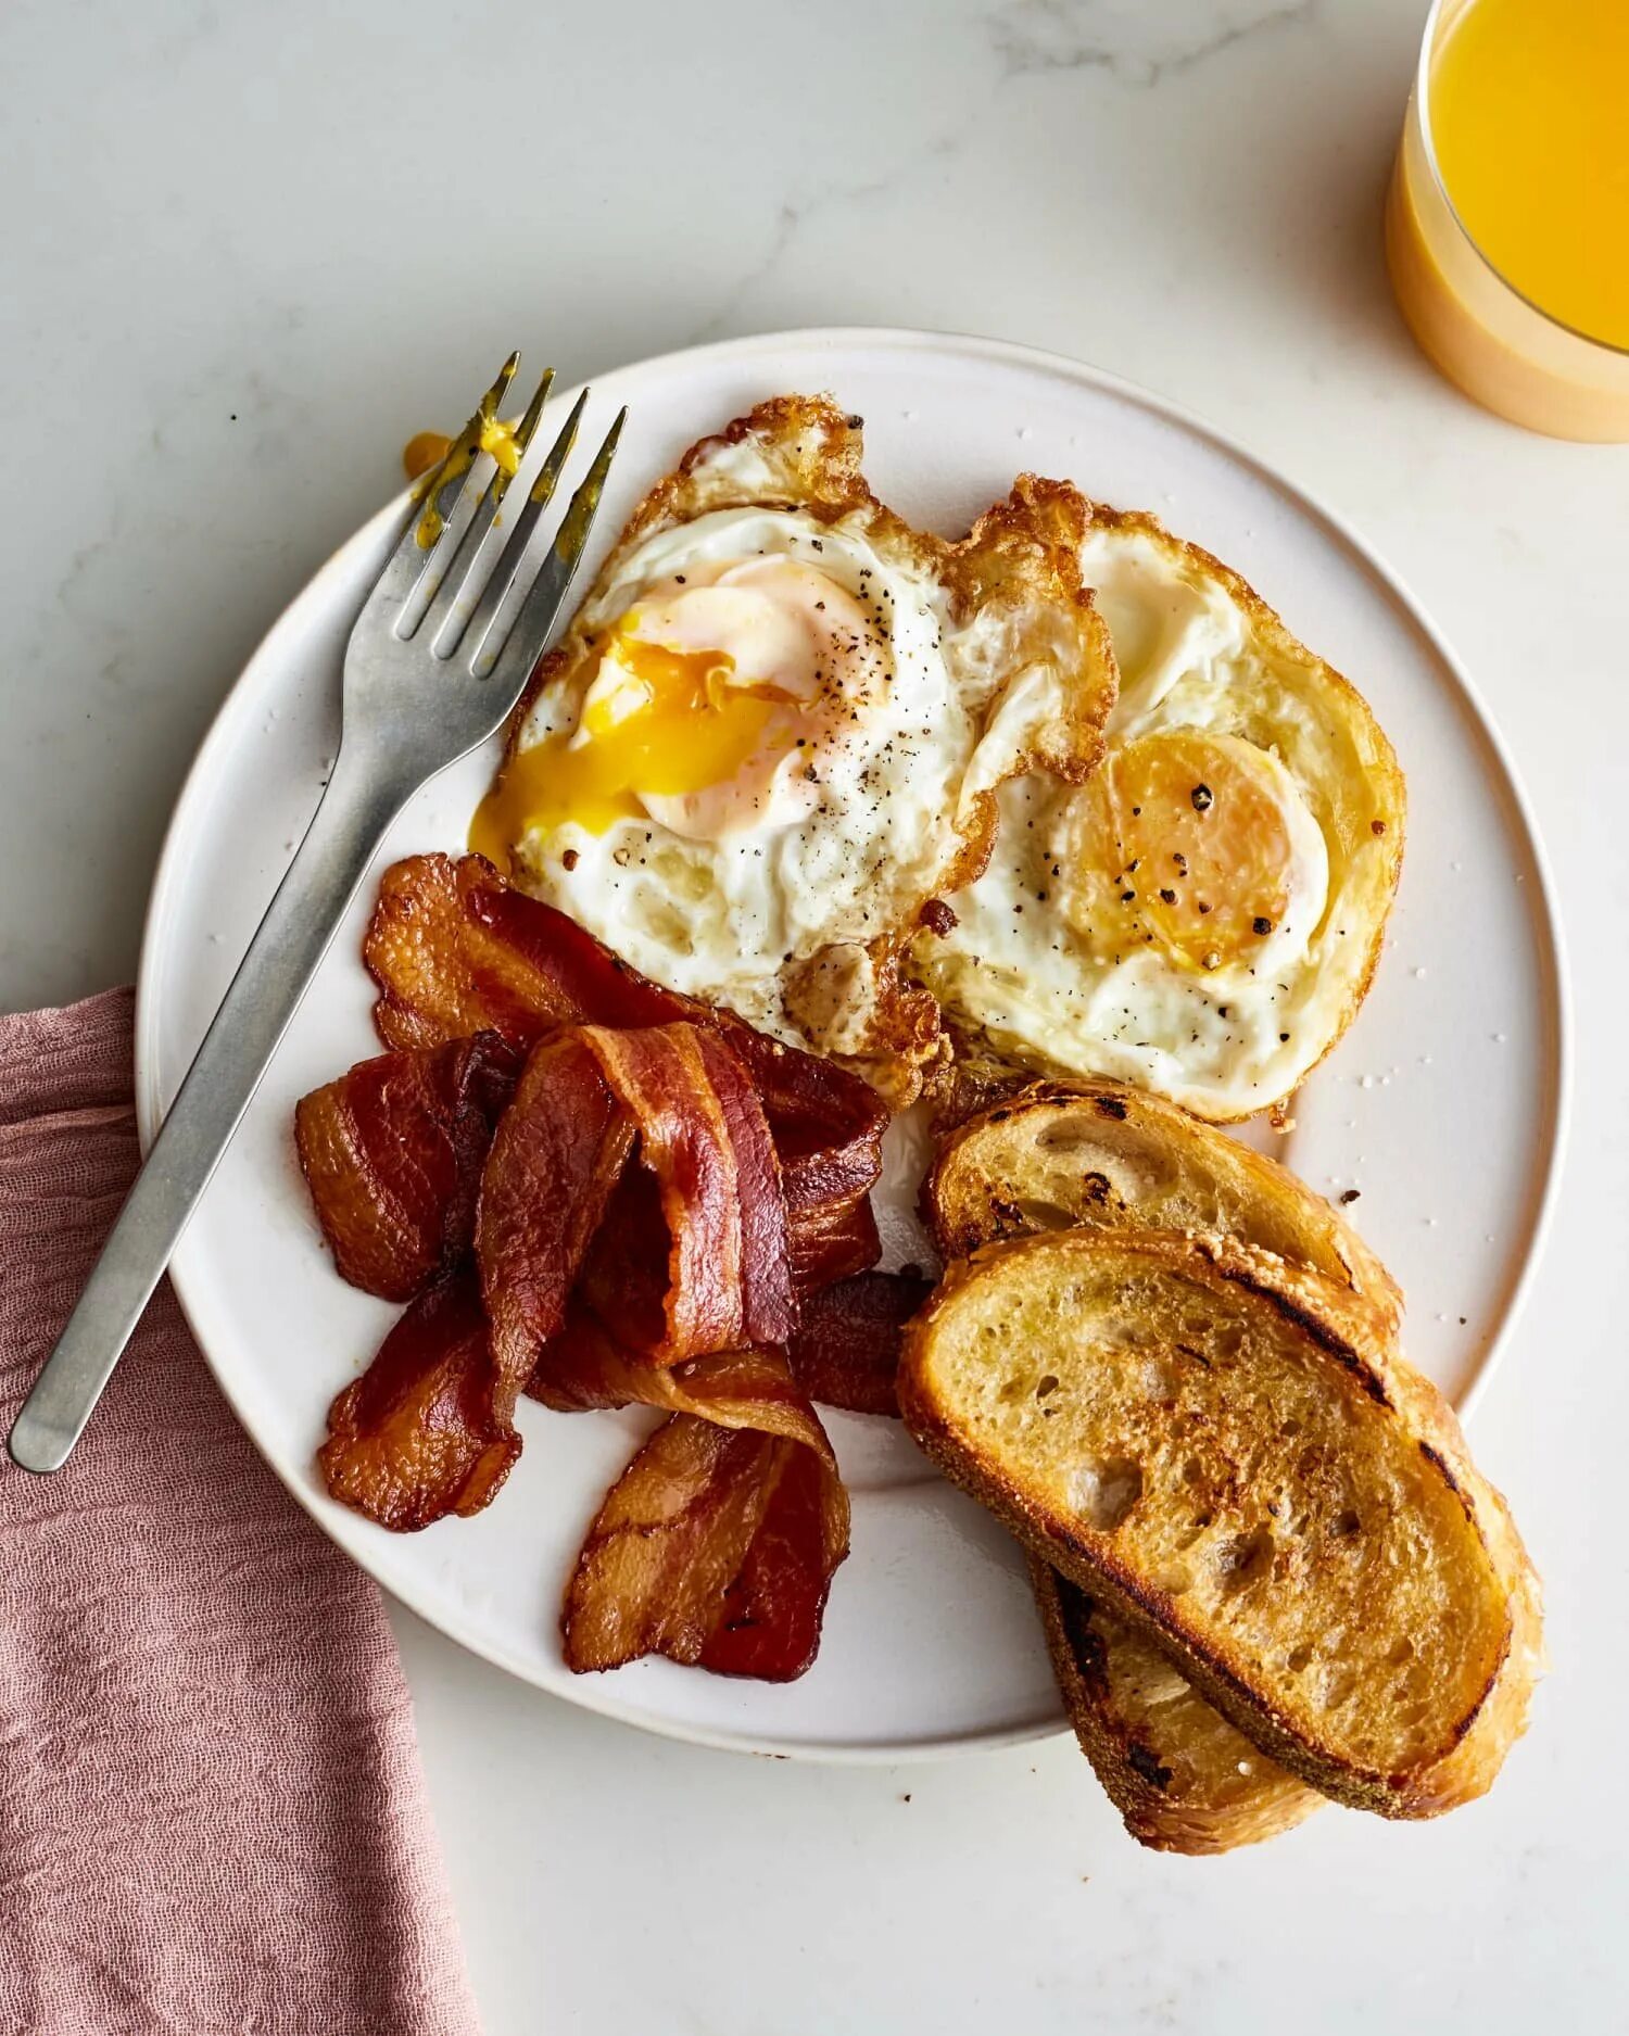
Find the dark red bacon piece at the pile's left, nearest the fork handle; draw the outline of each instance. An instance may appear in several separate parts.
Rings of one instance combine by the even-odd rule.
[[[479,1032],[360,1061],[301,1097],[299,1165],[340,1279],[411,1301],[458,1264],[519,1067],[507,1040]]]

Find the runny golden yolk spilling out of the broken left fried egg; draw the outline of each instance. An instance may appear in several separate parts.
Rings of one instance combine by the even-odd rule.
[[[764,743],[778,688],[735,686],[725,652],[648,643],[631,635],[635,619],[617,625],[578,729],[511,755],[476,808],[470,849],[505,873],[527,835],[566,821],[603,835],[637,818],[641,796],[725,784]]]

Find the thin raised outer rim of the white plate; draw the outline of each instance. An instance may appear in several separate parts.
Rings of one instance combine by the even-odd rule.
[[[1108,369],[1098,369],[1087,360],[1079,360],[1071,354],[1061,354],[1041,346],[1026,346],[1018,340],[998,340],[986,338],[969,332],[955,330],[929,330],[912,326],[802,326],[778,332],[747,334],[731,340],[713,340],[700,346],[684,346],[666,354],[652,354],[641,360],[623,362],[605,375],[595,377],[595,387],[605,389],[621,377],[643,375],[652,369],[680,369],[688,362],[698,360],[751,360],[755,356],[774,356],[788,348],[804,350],[841,350],[841,348],[872,348],[872,350],[892,350],[892,352],[941,352],[975,362],[1004,362],[1010,366],[1028,366],[1043,371],[1063,381],[1077,383],[1087,389],[1112,395],[1120,401],[1132,403],[1165,421],[1177,426],[1179,430],[1207,442],[1210,446],[1224,452],[1228,458],[1240,462],[1244,468],[1254,472],[1265,485],[1279,491],[1297,511],[1309,515],[1317,523],[1326,525],[1336,540],[1372,574],[1381,588],[1391,597],[1393,605],[1409,619],[1409,623],[1419,629],[1419,633],[1429,643],[1434,656],[1444,668],[1446,676],[1458,688],[1460,700],[1468,709],[1472,721],[1478,727],[1482,741],[1486,743],[1499,772],[1505,780],[1505,792],[1509,794],[1509,804],[1517,831],[1521,837],[1521,847],[1527,853],[1533,875],[1537,880],[1537,910],[1529,910],[1533,922],[1537,965],[1541,975],[1541,994],[1546,998],[1546,1032],[1548,1032],[1548,1059],[1550,1059],[1550,1108],[1548,1108],[1548,1132],[1550,1148],[1543,1167],[1543,1185],[1537,1193],[1533,1207],[1531,1228],[1527,1236],[1527,1254],[1523,1266],[1509,1291],[1499,1327],[1493,1340],[1486,1344],[1482,1360],[1460,1393],[1456,1409],[1462,1417],[1470,1417],[1480,1405],[1482,1393],[1488,1387],[1495,1370],[1503,1364],[1513,1332],[1525,1311],[1527,1299],[1531,1295],[1539,1264],[1543,1260],[1550,1232],[1554,1226],[1562,1169],[1566,1158],[1568,1132],[1572,1122],[1572,1083],[1574,1083],[1574,1010],[1572,1010],[1572,989],[1570,975],[1566,967],[1566,941],[1562,930],[1562,914],[1556,892],[1554,871],[1550,867],[1550,855],[1543,845],[1543,837],[1537,831],[1531,800],[1523,784],[1521,772],[1517,770],[1515,757],[1505,743],[1499,725],[1482,700],[1480,690],[1462,666],[1460,658],[1448,643],[1444,631],[1438,627],[1431,613],[1413,592],[1409,582],[1389,566],[1374,548],[1346,521],[1346,517],[1330,507],[1313,489],[1293,480],[1283,468],[1258,454],[1254,448],[1234,438],[1230,432],[1210,423],[1205,417],[1187,409],[1187,405],[1173,401],[1134,383],[1122,375],[1114,375]],[[572,395],[574,391],[566,391]],[[289,619],[303,609],[307,603],[320,599],[320,590],[328,576],[334,572],[340,558],[344,558],[352,548],[362,544],[377,525],[393,521],[401,515],[401,507],[407,497],[407,489],[385,503],[375,515],[360,523],[318,568],[316,572],[295,590],[295,595],[277,611],[277,615],[267,623],[255,649],[244,660],[232,684],[226,688],[220,704],[216,706],[210,727],[198,745],[191,764],[187,766],[187,776],[181,784],[181,792],[171,808],[169,821],[165,825],[163,843],[159,849],[159,861],[153,875],[153,888],[147,900],[147,912],[143,916],[141,935],[141,963],[136,969],[136,1010],[134,1010],[134,1104],[136,1104],[136,1130],[141,1138],[143,1152],[153,1140],[161,1110],[159,1110],[159,947],[161,932],[171,916],[171,898],[179,884],[181,873],[181,845],[183,837],[191,831],[193,808],[202,804],[206,788],[214,778],[216,751],[226,747],[228,721],[232,719],[232,704],[238,698],[250,672],[257,668],[267,652],[267,645],[281,635]],[[540,1690],[544,1696],[558,1698],[560,1702],[574,1704],[576,1708],[597,1712],[607,1718],[615,1718],[623,1724],[633,1724],[641,1731],[656,1733],[662,1739],[682,1741],[686,1745],[700,1745],[715,1751],[733,1753],[757,1753],[760,1757],[776,1759],[798,1759],[823,1765],[902,1765],[906,1761],[924,1759],[945,1759],[959,1753],[981,1753],[998,1751],[1016,1745],[1034,1745],[1043,1739],[1053,1739],[1069,1731],[1067,1718],[1059,1716],[1047,1724],[1014,1724],[996,1731],[969,1731],[959,1735],[941,1735],[935,1739],[912,1739],[912,1741],[886,1741],[886,1743],[865,1743],[865,1741],[810,1741],[800,1737],[770,1739],[762,1731],[727,1731],[707,1724],[692,1724],[666,1716],[662,1712],[648,1710],[641,1704],[619,1700],[609,1688],[601,1688],[605,1678],[595,1678],[593,1686],[556,1686],[554,1682],[544,1682],[533,1672],[529,1663],[509,1655],[501,1641],[491,1637],[474,1637],[464,1631],[452,1631],[442,1617],[428,1610],[424,1602],[415,1600],[415,1592],[403,1580],[385,1580],[375,1570],[373,1562],[367,1560],[364,1545],[367,1537],[360,1533],[362,1523],[352,1523],[350,1519],[328,1519],[318,1513],[312,1494],[305,1490],[303,1480],[293,1472],[285,1470],[269,1450],[263,1446],[252,1423],[246,1419],[238,1405],[238,1397],[226,1376],[224,1366],[220,1366],[210,1352],[206,1338],[200,1334],[193,1299],[189,1295],[189,1264],[185,1252],[185,1238],[177,1246],[175,1258],[169,1268],[171,1287],[175,1291],[181,1313],[187,1327],[198,1342],[204,1362],[220,1387],[222,1397],[232,1409],[234,1419],[248,1435],[255,1452],[273,1472],[273,1476],[283,1484],[283,1488],[293,1496],[295,1505],[316,1523],[316,1527],[334,1541],[342,1553],[356,1562],[375,1584],[389,1592],[397,1602],[401,1602],[413,1617],[422,1619],[434,1631],[444,1633],[458,1647],[466,1647],[470,1653],[495,1667],[505,1670],[529,1688]],[[580,1678],[578,1678],[580,1682]]]

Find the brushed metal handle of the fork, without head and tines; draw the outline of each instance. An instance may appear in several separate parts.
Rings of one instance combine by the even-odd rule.
[[[346,770],[340,747],[316,818],[12,1425],[10,1454],[24,1470],[67,1462],[409,790],[377,770]]]

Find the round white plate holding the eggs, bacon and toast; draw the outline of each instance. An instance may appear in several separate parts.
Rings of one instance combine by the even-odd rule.
[[[1334,517],[1171,405],[1071,360],[912,332],[806,332],[607,375],[629,405],[603,550],[694,438],[788,389],[865,417],[865,470],[912,521],[961,531],[1020,468],[1153,509],[1252,580],[1374,704],[1409,772],[1403,890],[1358,1024],[1277,1140],[1409,1295],[1415,1364],[1464,1403],[1509,1330],[1558,1154],[1564,1020],[1554,918],[1521,798],[1462,674],[1403,588]],[[405,419],[407,423],[422,419]],[[277,621],[175,810],[147,924],[136,1026],[143,1136],[165,1104],[316,808],[338,741],[350,621],[393,538],[381,511]],[[597,558],[584,562],[584,578]],[[385,861],[458,851],[493,757],[424,790]],[[521,1407],[525,1454],[474,1521],[389,1535],[336,1507],[312,1452],[330,1397],[395,1309],[334,1275],[293,1156],[295,1099],[379,1051],[358,945],[373,882],[328,955],[198,1211],[173,1277],[222,1389],[326,1531],[424,1619],[517,1676],[654,1731],[764,1753],[886,1757],[1055,1731],[1059,1702],[1006,1535],[892,1425],[833,1415],[853,1488],[817,1665],[770,1688],[668,1661],[576,1678],[558,1606],[578,1541],[648,1417]]]

